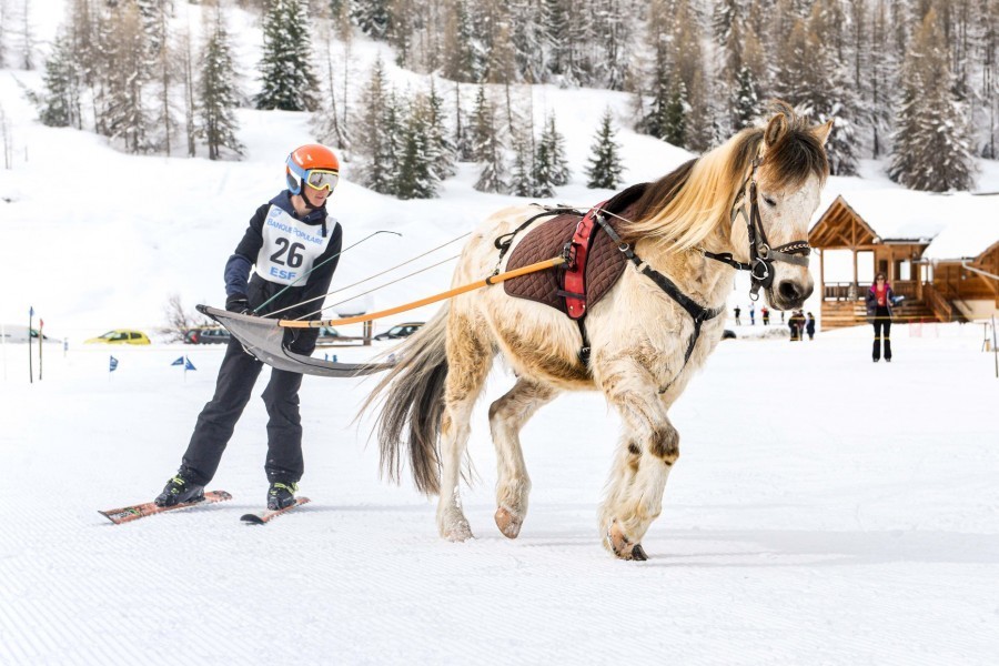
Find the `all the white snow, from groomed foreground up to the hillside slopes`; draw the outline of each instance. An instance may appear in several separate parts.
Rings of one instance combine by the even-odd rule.
[[[40,32],[54,31],[53,13]],[[259,34],[245,13],[230,28]],[[252,65],[250,39],[241,59]],[[366,62],[382,47],[359,39],[352,49]],[[500,363],[473,418],[470,543],[436,535],[434,503],[408,481],[379,480],[370,417],[353,423],[370,380],[304,381],[307,506],[266,527],[240,524],[266,490],[266,415],[253,401],[211,484],[233,501],[112,525],[97,509],[151,500],[176,468],[222,357],[157,340],[169,294],[189,306],[221,302],[222,265],[246,221],[282,186],[290,147],[313,138],[302,114],[241,110],[244,161],[129,157],[93,134],[40,127],[18,81],[40,85],[37,72],[0,71],[14,141],[13,169],[0,171],[0,323],[27,325],[33,306],[68,349],[46,344],[43,380],[29,384],[28,345],[0,346],[0,664],[995,663],[999,380],[977,324],[897,325],[891,364],[870,362],[866,326],[797,345],[760,325],[731,326],[739,337],[719,345],[673,408],[683,455],[643,542],[645,563],[599,545],[596,508],[619,420],[594,393],[562,396],[525,427],[531,512],[516,541],[498,533],[486,410],[513,384]],[[625,129],[626,95],[531,94],[536,118],[554,110],[567,138],[573,179],[553,201],[609,194],[583,184],[608,104],[628,182],[689,158]],[[377,230],[403,236],[349,250],[333,289],[514,201],[475,192],[468,164],[441,199],[407,202],[357,186],[351,168],[331,203],[344,245]],[[877,163],[861,173],[830,179],[826,196],[891,188]],[[995,163],[979,189],[999,189]],[[450,272],[393,284],[371,307],[442,291]],[[741,300],[744,321],[746,291],[738,283],[729,303]],[[155,344],[81,344],[112,327],[145,330]],[[320,353],[360,361],[386,349]],[[171,366],[183,354],[196,371]]]

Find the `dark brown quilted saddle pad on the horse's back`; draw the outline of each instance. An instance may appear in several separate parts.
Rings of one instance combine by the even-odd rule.
[[[605,208],[629,219],[627,213],[635,208],[634,204],[644,190],[644,183],[633,185],[616,194]],[[513,271],[561,255],[563,246],[573,240],[573,233],[575,233],[579,220],[581,215],[562,214],[532,229],[514,249],[505,270]],[[607,216],[607,220],[615,231],[622,222],[613,216]],[[627,261],[627,258],[618,251],[617,245],[599,225],[594,228],[593,234],[593,243],[589,246],[589,255],[583,274],[587,310],[610,291],[624,272]],[[503,283],[503,289],[507,295],[536,301],[565,313],[565,299],[558,295],[558,291],[563,289],[564,275],[565,271],[557,268],[538,271],[507,280]]]

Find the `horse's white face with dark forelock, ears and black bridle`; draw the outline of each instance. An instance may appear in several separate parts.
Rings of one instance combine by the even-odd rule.
[[[815,285],[808,272],[808,224],[829,174],[825,142],[833,124],[808,128],[777,103],[765,129],[733,138],[743,181],[731,208],[733,254],[751,264],[753,293],[760,287],[778,310],[800,307]]]

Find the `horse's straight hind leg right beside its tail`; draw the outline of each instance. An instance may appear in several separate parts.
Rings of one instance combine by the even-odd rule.
[[[452,311],[447,322],[447,379],[444,384],[444,417],[441,427],[441,494],[437,528],[450,541],[472,537],[462,512],[462,456],[471,433],[472,407],[493,366],[493,347],[485,326]]]

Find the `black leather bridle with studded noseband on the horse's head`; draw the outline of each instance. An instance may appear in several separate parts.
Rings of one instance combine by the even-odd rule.
[[[731,223],[735,224],[736,219],[741,215],[746,221],[746,233],[749,236],[749,263],[736,261],[731,256],[731,252],[708,252],[700,249],[700,253],[707,259],[714,259],[722,263],[728,264],[739,271],[749,271],[751,286],[749,287],[749,300],[759,300],[759,289],[769,289],[774,284],[774,262],[783,261],[785,263],[795,264],[797,266],[808,268],[808,255],[811,253],[811,245],[808,240],[791,241],[778,248],[770,248],[767,241],[767,234],[764,232],[763,220],[759,214],[759,196],[756,186],[756,171],[759,168],[760,159],[757,155],[753,159],[751,170],[746,180],[739,188],[739,194],[731,204]],[[746,190],[748,185],[748,201]],[[746,204],[749,204],[749,212],[746,212]]]

